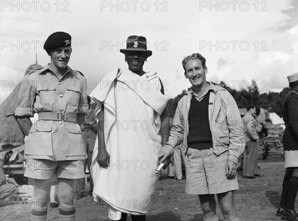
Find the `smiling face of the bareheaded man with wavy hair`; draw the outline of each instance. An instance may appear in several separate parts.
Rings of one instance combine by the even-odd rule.
[[[189,79],[195,90],[200,90],[206,83],[207,67],[204,69],[199,59],[189,60],[185,65],[184,76]]]

